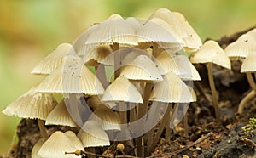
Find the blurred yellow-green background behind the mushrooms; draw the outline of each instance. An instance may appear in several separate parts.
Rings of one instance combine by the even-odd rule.
[[[43,77],[30,71],[61,42],[73,42],[110,14],[146,19],[157,8],[185,15],[204,40],[256,25],[255,0],[1,0],[0,110]],[[6,153],[20,119],[0,114],[0,154]]]

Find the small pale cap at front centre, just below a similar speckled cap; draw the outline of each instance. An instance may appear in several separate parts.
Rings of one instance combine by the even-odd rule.
[[[120,93],[122,92],[122,93]],[[110,84],[102,96],[102,102],[143,103],[141,93],[125,76],[119,76]]]

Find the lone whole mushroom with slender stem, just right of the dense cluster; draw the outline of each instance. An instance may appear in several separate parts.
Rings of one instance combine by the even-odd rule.
[[[192,54],[190,57],[192,63],[207,63],[208,79],[212,91],[212,102],[215,110],[215,116],[217,122],[220,123],[220,114],[218,107],[218,93],[215,88],[213,74],[212,74],[212,63],[222,66],[226,69],[230,69],[230,59],[225,54],[224,50],[220,48],[218,42],[212,40],[205,42],[201,48]]]

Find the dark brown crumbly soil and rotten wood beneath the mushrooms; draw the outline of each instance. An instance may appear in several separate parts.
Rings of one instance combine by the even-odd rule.
[[[247,31],[238,32],[230,37],[222,37],[218,43],[225,48],[230,42],[236,41],[241,34]],[[236,112],[239,102],[250,91],[246,76],[239,72],[240,67],[241,63],[237,61],[232,61],[232,71],[214,65],[214,79],[219,94],[219,106],[221,107],[221,123],[218,124],[214,118],[211,91],[207,81],[207,68],[205,65],[196,65],[201,74],[201,82],[195,82],[197,102],[190,104],[187,113],[189,136],[184,136],[183,124],[180,123],[173,131],[171,140],[166,140],[163,133],[163,137],[160,138],[159,144],[151,155],[155,155],[155,157],[172,156],[173,158],[256,157],[256,127],[254,126],[250,130],[242,129],[249,124],[250,118],[256,117],[256,98],[247,103],[242,115],[238,115]],[[55,130],[68,130],[67,127],[48,127],[48,129],[49,133],[53,133]],[[211,136],[200,143],[189,147],[187,150],[177,152],[177,150],[195,143],[196,140],[209,133]],[[7,155],[0,155],[0,157],[30,157],[33,144],[40,138],[37,121],[26,119],[20,121],[17,127],[17,136],[19,138],[18,144],[10,147]],[[111,148],[108,150],[113,151]],[[124,152],[129,155],[128,150]],[[118,154],[121,155],[122,153]]]

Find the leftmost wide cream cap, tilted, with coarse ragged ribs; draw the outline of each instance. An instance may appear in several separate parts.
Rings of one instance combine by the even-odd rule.
[[[7,116],[18,116],[22,118],[46,120],[49,112],[58,104],[49,93],[38,93],[32,87],[14,102],[9,104],[3,114]]]

